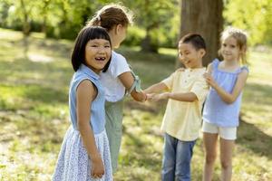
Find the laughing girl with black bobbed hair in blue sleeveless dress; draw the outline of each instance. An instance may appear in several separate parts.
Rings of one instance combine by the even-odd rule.
[[[112,164],[105,131],[105,95],[100,71],[107,71],[111,38],[102,27],[84,27],[73,48],[69,90],[72,125],[63,138],[53,181],[111,181]]]

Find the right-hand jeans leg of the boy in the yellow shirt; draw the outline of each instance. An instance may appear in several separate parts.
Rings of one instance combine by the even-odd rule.
[[[178,141],[176,155],[176,181],[190,180],[190,160],[193,155],[193,148],[196,143],[194,141]]]

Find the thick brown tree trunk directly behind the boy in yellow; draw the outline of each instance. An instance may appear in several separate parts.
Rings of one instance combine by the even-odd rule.
[[[218,57],[219,37],[223,27],[222,11],[222,0],[181,0],[180,38],[187,33],[203,36],[207,46],[204,66]]]

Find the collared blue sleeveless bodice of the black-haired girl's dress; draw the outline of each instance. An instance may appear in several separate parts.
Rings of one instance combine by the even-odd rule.
[[[78,71],[74,72],[73,78],[70,82],[69,90],[69,109],[70,118],[73,124],[73,129],[77,130],[77,118],[76,118],[76,89],[79,83],[83,80],[92,81],[97,91],[97,96],[92,100],[91,106],[91,118],[90,125],[94,134],[99,134],[105,129],[105,94],[102,89],[102,84],[99,81],[99,75],[92,71],[85,65],[81,65]]]

